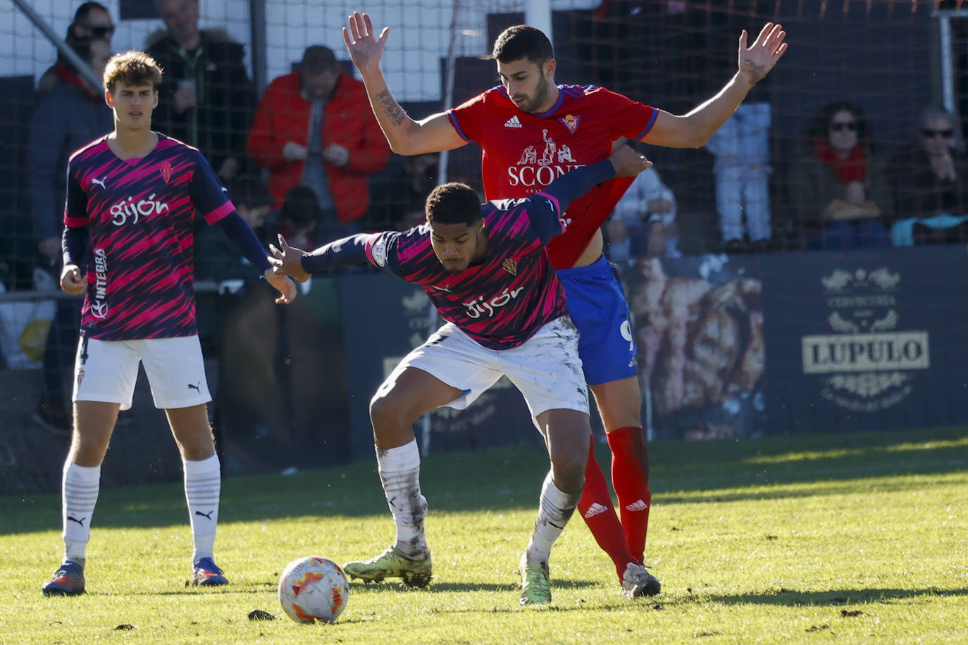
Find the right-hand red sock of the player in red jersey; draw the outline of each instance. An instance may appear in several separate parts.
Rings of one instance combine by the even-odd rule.
[[[621,526],[628,550],[643,563],[649,531],[649,448],[641,427],[620,427],[606,432],[612,449],[612,486],[619,498]],[[588,475],[586,474],[586,477]],[[586,484],[588,485],[588,484]]]

